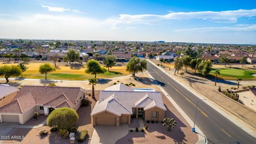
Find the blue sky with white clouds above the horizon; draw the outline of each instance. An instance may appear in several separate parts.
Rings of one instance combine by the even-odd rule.
[[[0,38],[256,44],[256,1],[0,1]]]

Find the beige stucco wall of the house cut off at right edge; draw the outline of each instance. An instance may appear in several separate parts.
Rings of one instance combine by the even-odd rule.
[[[241,100],[245,106],[256,111],[256,96],[250,91],[237,92],[239,94],[239,100]]]

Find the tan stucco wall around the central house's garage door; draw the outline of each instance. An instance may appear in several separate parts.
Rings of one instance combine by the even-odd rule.
[[[106,124],[110,123],[110,122],[108,122],[108,121],[111,121],[111,120],[109,120],[110,118],[115,118],[116,119],[116,126],[119,126],[119,116],[108,113],[107,111],[104,111],[104,112],[102,112],[98,115],[92,116],[92,125],[93,126],[96,125],[96,118],[102,118],[102,119],[105,118]]]

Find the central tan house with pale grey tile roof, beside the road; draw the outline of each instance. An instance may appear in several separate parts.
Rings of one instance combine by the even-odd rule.
[[[92,124],[130,124],[131,117],[163,121],[165,115],[161,92],[134,91],[124,84],[116,84],[100,92],[91,116]]]

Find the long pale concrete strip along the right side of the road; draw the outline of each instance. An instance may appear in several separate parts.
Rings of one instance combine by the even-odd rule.
[[[154,62],[147,60],[148,62],[150,62],[151,64],[155,65]],[[157,67],[158,69],[162,70],[164,73],[166,73],[166,71],[160,67]],[[170,75],[168,75],[170,78],[172,78],[174,81],[176,81],[177,83],[179,83],[181,86],[185,87],[186,85],[181,83],[180,81],[178,81],[176,78],[171,77]],[[194,90],[192,90],[190,87],[186,86],[186,89],[189,90],[191,93],[193,93],[194,95],[196,95],[197,98],[199,99],[205,99],[206,97],[202,96],[201,94],[198,94],[197,92],[195,92]],[[208,99],[208,98],[207,98]],[[225,111],[221,110],[220,108],[218,108],[217,106],[215,106],[213,103],[207,101],[204,101],[207,105],[209,105],[210,107],[212,107],[214,110],[216,110],[218,113],[220,113],[222,116],[226,117],[230,122],[234,123],[235,125],[237,125],[238,127],[240,127],[242,130],[244,130],[245,132],[249,133],[250,135],[252,135],[252,137],[256,138],[256,133],[254,131],[252,131],[249,127],[245,126],[244,124],[242,124],[241,122],[238,121],[237,118],[233,118],[231,116],[229,116]]]

